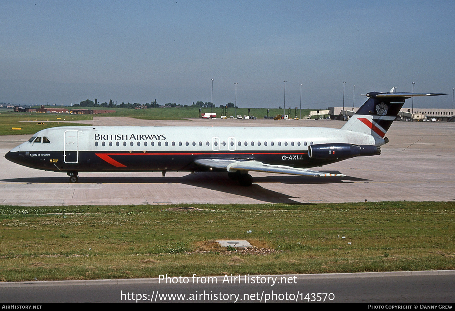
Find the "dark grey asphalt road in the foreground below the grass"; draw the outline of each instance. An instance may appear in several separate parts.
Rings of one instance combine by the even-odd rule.
[[[0,301],[318,302],[318,293],[321,293],[320,303],[410,303],[414,308],[414,304],[420,303],[455,302],[455,271],[251,276],[250,279],[241,279],[240,284],[238,279],[234,284],[230,277],[218,276],[216,280],[210,280],[210,284],[201,284],[202,279],[193,279],[191,276],[187,280],[174,279],[177,284],[169,284],[171,279],[167,284],[164,281],[159,283],[156,278],[0,283]]]

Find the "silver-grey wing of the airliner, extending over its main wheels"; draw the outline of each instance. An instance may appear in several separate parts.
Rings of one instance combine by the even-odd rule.
[[[235,171],[256,171],[264,173],[278,173],[300,176],[313,176],[313,177],[344,177],[343,174],[330,174],[319,171],[312,171],[302,168],[284,165],[271,165],[259,161],[242,161],[231,159],[198,159],[194,161],[197,165],[205,167],[213,167],[218,169],[226,169],[228,172]]]

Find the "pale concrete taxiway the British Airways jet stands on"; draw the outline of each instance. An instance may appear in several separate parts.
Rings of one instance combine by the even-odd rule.
[[[93,125],[317,126],[334,120],[138,120],[94,117]],[[316,168],[347,177],[317,178],[251,172],[253,186],[233,184],[224,173],[64,173],[39,171],[5,159],[31,135],[0,136],[1,205],[119,205],[172,203],[311,203],[455,200],[455,123],[400,122],[387,133],[379,156],[353,158]]]

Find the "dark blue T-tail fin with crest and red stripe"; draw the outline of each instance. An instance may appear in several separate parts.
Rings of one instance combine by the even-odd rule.
[[[384,141],[385,133],[403,107],[404,100],[413,96],[447,95],[443,93],[395,93],[395,91],[396,87],[393,87],[390,92],[364,94],[369,97],[368,100],[341,129],[372,135],[378,138],[379,145],[382,145],[387,141],[387,139]]]

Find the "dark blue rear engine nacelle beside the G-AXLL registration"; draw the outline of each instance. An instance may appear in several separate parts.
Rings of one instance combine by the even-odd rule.
[[[381,148],[372,145],[319,144],[308,146],[308,156],[312,159],[348,159],[354,156],[374,156],[381,154]]]

